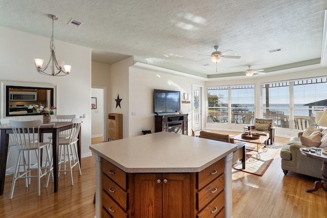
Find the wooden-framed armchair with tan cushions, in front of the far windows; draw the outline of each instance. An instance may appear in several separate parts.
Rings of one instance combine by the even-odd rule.
[[[254,125],[248,126],[248,130],[252,131],[252,133],[258,135],[265,135],[269,137],[269,144],[273,144],[275,140],[275,128],[274,128],[274,120],[266,119],[266,118],[255,118]]]

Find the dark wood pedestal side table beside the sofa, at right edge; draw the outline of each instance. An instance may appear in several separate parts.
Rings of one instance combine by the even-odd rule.
[[[318,190],[319,188],[322,188],[323,190],[327,191],[327,155],[324,155],[323,153],[317,155],[316,152],[305,151],[303,150],[303,148],[300,148],[300,151],[302,155],[314,159],[322,160],[322,168],[321,168],[322,180],[315,181],[313,188],[307,189],[306,192],[313,192]]]

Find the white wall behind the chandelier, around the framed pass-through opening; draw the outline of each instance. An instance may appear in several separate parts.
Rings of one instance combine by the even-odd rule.
[[[36,71],[34,58],[49,61],[50,38],[4,27],[0,27],[0,32],[0,81],[57,85],[57,114],[87,116],[82,124],[81,154],[82,157],[91,155],[91,50],[55,40],[57,59],[72,65],[72,71],[70,75],[63,77],[43,76]]]

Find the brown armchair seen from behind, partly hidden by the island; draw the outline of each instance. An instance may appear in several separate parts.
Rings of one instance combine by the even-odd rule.
[[[212,132],[206,132],[206,131],[200,131],[199,138],[207,138],[217,141],[223,141],[228,143],[234,143],[233,138],[229,138],[229,135],[227,134],[219,134],[219,133],[212,133]],[[242,162],[242,169],[245,169],[245,142],[242,142],[238,145],[238,149],[233,152],[233,157],[231,160],[232,167],[239,164],[239,162]]]

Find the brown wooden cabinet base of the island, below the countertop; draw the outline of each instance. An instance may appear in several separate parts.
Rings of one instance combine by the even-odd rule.
[[[199,173],[125,173],[102,160],[102,217],[225,217],[224,159]]]

